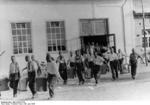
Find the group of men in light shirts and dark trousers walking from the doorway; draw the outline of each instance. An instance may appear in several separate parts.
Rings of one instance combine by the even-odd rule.
[[[103,49],[104,50],[104,49]],[[82,50],[70,52],[68,60],[63,56],[62,52],[59,52],[59,56],[55,60],[50,53],[47,53],[46,59],[46,71],[47,71],[47,81],[48,81],[48,89],[49,96],[52,98],[54,96],[54,87],[58,80],[58,78],[63,79],[64,85],[67,84],[68,81],[68,68],[72,71],[73,77],[78,77],[79,85],[83,85],[85,83],[85,74],[88,72],[88,78],[95,79],[95,85],[99,82],[99,77],[101,75],[102,66],[106,65],[106,70],[111,71],[112,79],[116,80],[119,78],[118,71],[120,73],[122,70],[122,63],[125,56],[121,50],[118,50],[118,53],[114,52],[113,48],[105,48],[106,51],[102,51],[101,48],[95,47],[94,45],[89,46],[82,52]],[[136,68],[137,68],[137,55],[132,50],[130,55],[130,65],[131,65],[131,75],[132,78],[135,79]],[[9,79],[10,79],[10,87],[13,88],[13,97],[17,95],[18,83],[20,79],[20,69],[19,64],[15,59],[15,56],[11,56],[12,63],[10,64],[9,71]],[[40,73],[40,64],[35,59],[34,55],[25,57],[25,61],[27,62],[27,66],[23,69],[28,71],[28,84],[33,95],[32,98],[37,96],[37,91],[35,88],[36,75]],[[57,70],[56,64],[59,63],[59,68]]]

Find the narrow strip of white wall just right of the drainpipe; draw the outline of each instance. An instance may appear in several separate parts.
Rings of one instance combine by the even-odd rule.
[[[123,7],[124,25],[125,25],[125,43],[126,52],[129,55],[131,49],[135,48],[135,22],[133,18],[133,1],[127,0]]]

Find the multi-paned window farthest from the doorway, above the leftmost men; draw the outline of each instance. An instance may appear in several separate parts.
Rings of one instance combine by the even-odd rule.
[[[31,24],[29,22],[11,23],[11,28],[13,38],[13,53],[32,53]]]

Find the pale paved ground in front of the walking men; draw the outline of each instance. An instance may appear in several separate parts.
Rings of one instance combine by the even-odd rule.
[[[77,79],[69,80],[68,85],[59,84],[52,100],[149,100],[150,98],[150,66],[139,65],[136,80],[130,74],[119,76],[112,81],[111,74],[102,75],[100,83],[95,86],[94,79],[79,86]],[[47,100],[48,92],[39,92],[34,100]],[[31,100],[30,91],[19,92],[17,98],[12,97],[12,90],[3,91],[4,100]]]

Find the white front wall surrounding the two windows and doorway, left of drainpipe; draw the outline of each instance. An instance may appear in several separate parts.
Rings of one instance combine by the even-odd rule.
[[[0,3],[1,74],[7,74],[10,56],[13,54],[11,22],[31,22],[33,51],[38,60],[45,60],[47,52],[46,21],[64,20],[68,50],[77,49],[79,43],[79,19],[108,18],[109,31],[116,34],[117,48],[123,48],[123,23],[120,7],[91,5],[91,2],[2,2]],[[94,14],[93,14],[94,10]],[[113,11],[113,12],[112,12]],[[126,29],[126,31],[129,31]],[[129,32],[128,32],[129,33]],[[127,34],[128,34],[127,33]],[[131,33],[129,33],[131,35]],[[75,40],[73,40],[75,39]],[[130,44],[129,44],[130,45]],[[56,56],[56,54],[54,55]],[[25,55],[16,55],[20,68],[25,67]]]

